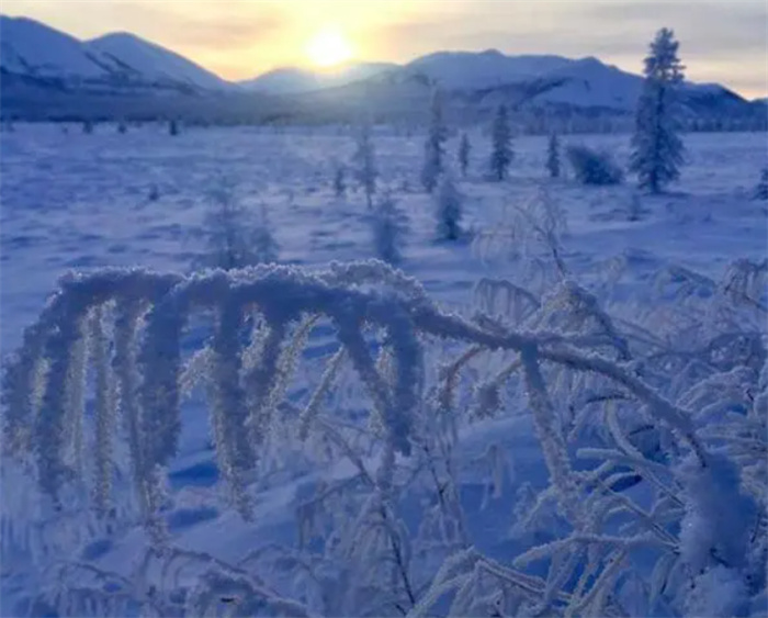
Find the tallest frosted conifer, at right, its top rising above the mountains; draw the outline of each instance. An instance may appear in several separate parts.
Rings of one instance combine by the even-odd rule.
[[[635,133],[632,137],[630,170],[637,175],[641,189],[658,193],[680,177],[685,148],[678,135],[677,86],[684,69],[677,56],[679,43],[669,29],[662,29],[645,58],[645,80],[637,101]]]

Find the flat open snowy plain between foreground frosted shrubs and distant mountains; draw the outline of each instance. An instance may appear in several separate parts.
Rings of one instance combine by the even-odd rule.
[[[630,183],[584,188],[547,180],[542,137],[516,139],[510,180],[485,182],[488,139],[471,138],[470,177],[461,182],[467,228],[493,228],[506,205],[524,202],[544,183],[566,212],[567,259],[578,270],[630,252],[648,271],[674,261],[716,274],[731,259],[766,252],[764,210],[749,199],[768,154],[763,134],[689,135],[690,165],[681,182],[668,195],[643,196],[647,214],[639,222],[622,214],[634,190]],[[449,143],[451,162],[458,142],[454,136]],[[624,135],[563,138],[564,146],[572,143],[606,147],[622,162],[629,153]],[[419,183],[420,135],[383,131],[375,148],[380,191],[389,190],[409,218],[402,268],[440,301],[470,302],[476,280],[502,273],[504,262],[484,263],[466,244],[433,243],[434,209]],[[190,128],[170,137],[156,125],[124,135],[112,125],[98,126],[93,135],[79,125],[66,134],[60,126],[20,125],[3,134],[1,149],[0,333],[7,351],[68,269],[189,270],[204,247],[205,195],[222,176],[245,204],[267,204],[283,261],[313,266],[375,257],[362,193],[334,196],[335,166],[347,164],[354,149],[348,132]]]

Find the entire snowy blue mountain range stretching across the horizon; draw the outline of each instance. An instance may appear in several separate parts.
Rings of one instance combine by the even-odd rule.
[[[426,121],[436,85],[454,123],[486,122],[504,103],[524,127],[631,121],[642,78],[594,57],[437,52],[405,65],[355,63],[332,71],[281,68],[228,82],[129,33],[79,41],[26,18],[0,15],[3,115],[25,119],[189,117],[201,122]],[[685,83],[691,123],[763,126],[765,102],[719,85]],[[614,122],[617,119],[620,121]],[[761,124],[760,124],[761,123]]]

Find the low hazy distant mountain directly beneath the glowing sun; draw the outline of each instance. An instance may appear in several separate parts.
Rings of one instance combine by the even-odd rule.
[[[255,79],[238,82],[246,90],[270,94],[295,94],[345,86],[398,68],[393,63],[355,63],[334,71],[313,71],[296,67],[274,69]]]

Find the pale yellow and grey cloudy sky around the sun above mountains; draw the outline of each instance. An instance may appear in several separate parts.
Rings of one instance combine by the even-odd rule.
[[[687,78],[768,95],[766,0],[2,0],[79,38],[126,31],[226,79],[307,66],[319,32],[354,59],[405,63],[441,49],[597,56],[641,72],[656,30],[671,27]]]

